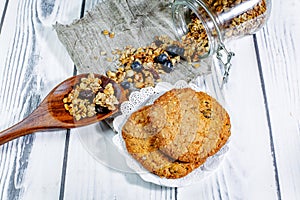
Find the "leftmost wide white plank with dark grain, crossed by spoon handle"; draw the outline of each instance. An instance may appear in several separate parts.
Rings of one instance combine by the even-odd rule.
[[[2,5],[2,3],[1,3]],[[31,113],[73,73],[52,25],[80,14],[78,1],[9,1],[0,35],[0,129]],[[0,147],[0,199],[57,199],[65,131],[36,133]]]

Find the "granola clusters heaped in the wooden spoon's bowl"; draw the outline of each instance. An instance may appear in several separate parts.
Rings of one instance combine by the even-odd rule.
[[[104,84],[94,74],[81,78],[63,102],[65,109],[76,120],[108,113],[119,104],[113,85]]]

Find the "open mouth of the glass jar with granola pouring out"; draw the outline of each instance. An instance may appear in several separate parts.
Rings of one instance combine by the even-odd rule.
[[[172,7],[177,37],[188,43],[199,59],[215,53],[218,47],[218,27],[207,7],[199,2],[176,1]],[[196,60],[197,61],[197,60]]]

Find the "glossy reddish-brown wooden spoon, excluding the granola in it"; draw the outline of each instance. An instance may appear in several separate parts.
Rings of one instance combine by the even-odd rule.
[[[96,114],[94,117],[76,120],[65,110],[63,98],[68,95],[78,82],[80,82],[81,78],[87,76],[88,74],[73,76],[56,86],[28,117],[16,125],[0,132],[0,145],[36,131],[85,126],[104,120],[116,113],[118,108],[106,114]],[[106,76],[99,74],[95,74],[94,76],[100,78],[105,85],[107,83],[113,84],[115,96],[119,100],[119,103],[126,99],[124,90],[117,83]]]

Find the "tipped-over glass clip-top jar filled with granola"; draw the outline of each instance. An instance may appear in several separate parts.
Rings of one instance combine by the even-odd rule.
[[[175,0],[172,18],[179,40],[189,46],[185,57],[197,62],[216,53],[227,80],[234,55],[224,45],[258,31],[270,15],[270,0]]]

